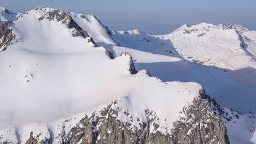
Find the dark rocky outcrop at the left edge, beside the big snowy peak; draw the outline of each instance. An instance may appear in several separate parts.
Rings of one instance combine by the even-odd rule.
[[[11,41],[16,39],[16,35],[13,34],[13,30],[10,29],[9,23],[4,22],[0,24],[0,51],[5,51],[7,46],[11,44]]]

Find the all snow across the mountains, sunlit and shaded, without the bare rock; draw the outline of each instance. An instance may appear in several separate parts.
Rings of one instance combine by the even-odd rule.
[[[16,19],[15,14],[0,14],[1,23]],[[124,100],[132,116],[143,118],[144,109],[154,110],[167,118],[171,128],[178,112],[198,96],[202,86],[227,109],[256,112],[254,32],[200,23],[183,25],[166,35],[138,30],[109,33],[95,16],[68,14],[98,46],[112,50],[115,58],[110,59],[104,47],[88,43],[90,38],[73,37],[73,29],[61,22],[39,21],[44,13],[22,14],[10,23],[17,36],[15,43],[0,53],[0,135],[5,139],[16,141],[18,133],[25,143],[31,131],[61,133],[56,123],[71,118],[65,123],[68,131],[84,112],[91,113],[115,99]],[[243,35],[252,39],[244,41],[244,47]],[[164,82],[149,77],[145,70],[131,75],[130,56],[119,57],[122,52],[131,53],[137,70],[148,69]],[[255,133],[245,134],[255,127],[255,121],[243,119],[246,115],[237,124],[226,125],[231,142],[256,141]],[[5,133],[10,127],[16,128]]]

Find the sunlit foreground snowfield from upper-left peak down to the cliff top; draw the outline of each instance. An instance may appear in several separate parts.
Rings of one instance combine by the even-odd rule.
[[[131,75],[129,55],[110,59],[89,38],[73,37],[73,29],[61,22],[39,21],[43,14],[35,11],[11,23],[17,40],[0,53],[1,127],[91,112],[122,97],[129,99],[134,115],[152,109],[172,123],[199,95],[197,83],[163,83],[143,71]]]

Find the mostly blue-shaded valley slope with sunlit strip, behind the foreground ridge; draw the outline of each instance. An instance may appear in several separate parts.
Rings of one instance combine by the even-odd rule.
[[[198,82],[220,105],[243,113],[256,111],[256,89],[242,85],[219,69],[127,47],[115,46],[113,51],[115,55],[124,51],[131,53],[136,69],[148,69],[162,81]]]

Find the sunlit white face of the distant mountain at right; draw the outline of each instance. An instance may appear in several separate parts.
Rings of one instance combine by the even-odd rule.
[[[179,55],[188,61],[223,69],[245,85],[256,87],[254,53],[247,50],[251,47],[245,46],[235,29],[223,30],[200,23],[158,38],[169,39]]]

